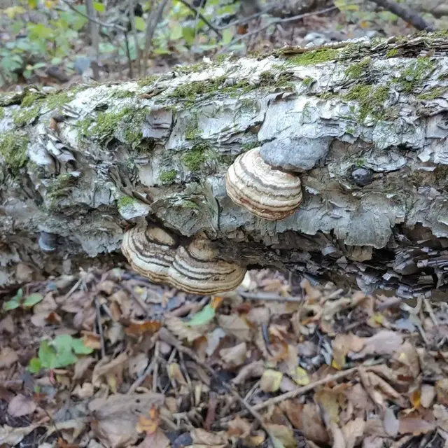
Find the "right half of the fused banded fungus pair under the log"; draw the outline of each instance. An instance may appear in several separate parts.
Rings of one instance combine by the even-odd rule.
[[[246,269],[237,263],[216,259],[206,239],[195,239],[187,248],[179,247],[169,269],[175,288],[192,294],[216,294],[237,288]]]

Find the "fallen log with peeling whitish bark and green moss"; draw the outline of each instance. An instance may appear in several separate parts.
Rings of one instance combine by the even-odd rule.
[[[362,39],[3,95],[0,284],[123,260],[123,231],[146,217],[206,232],[249,266],[402,297],[443,290],[447,48],[441,34]],[[226,195],[226,170],[257,146],[302,181],[282,221]]]

